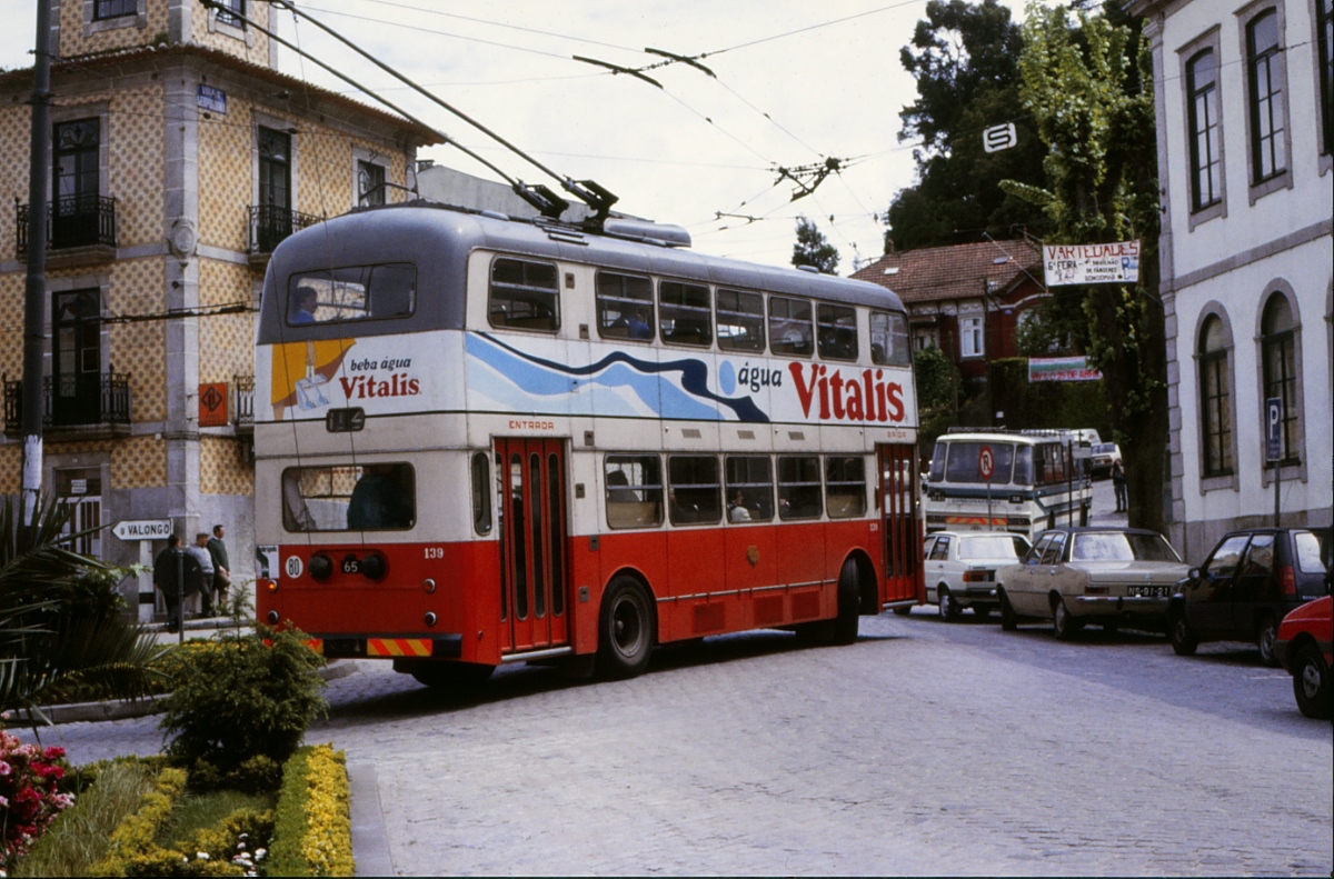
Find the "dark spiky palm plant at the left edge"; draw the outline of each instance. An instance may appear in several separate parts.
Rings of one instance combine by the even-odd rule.
[[[160,674],[155,639],[120,612],[120,572],[69,548],[69,515],[60,500],[39,500],[31,522],[15,498],[0,506],[0,712],[44,719],[41,694],[69,683],[137,698]]]

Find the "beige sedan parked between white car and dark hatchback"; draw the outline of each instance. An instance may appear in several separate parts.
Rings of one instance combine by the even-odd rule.
[[[1057,638],[1086,623],[1158,628],[1167,599],[1190,568],[1153,531],[1066,527],[1043,531],[1021,564],[996,572],[1000,628],[1021,618],[1050,619]]]

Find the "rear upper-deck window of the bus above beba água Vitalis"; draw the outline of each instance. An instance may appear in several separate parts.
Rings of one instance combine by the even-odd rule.
[[[292,272],[287,279],[289,325],[404,317],[415,307],[416,269],[411,263]]]

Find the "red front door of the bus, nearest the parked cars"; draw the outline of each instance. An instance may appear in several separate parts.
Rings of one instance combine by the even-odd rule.
[[[876,446],[875,450],[880,463],[880,511],[884,516],[884,600],[923,598],[916,447]]]

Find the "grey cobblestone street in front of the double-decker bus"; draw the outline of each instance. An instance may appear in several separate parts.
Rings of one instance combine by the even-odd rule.
[[[967,619],[967,618],[966,618]],[[460,702],[362,662],[308,735],[371,766],[396,872],[1329,875],[1329,723],[1241,646],[863,619],[620,683],[503,668]],[[76,762],[155,719],[68,724]]]

